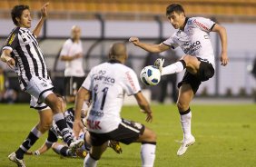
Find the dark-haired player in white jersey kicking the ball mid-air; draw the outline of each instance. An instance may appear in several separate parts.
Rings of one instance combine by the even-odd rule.
[[[152,53],[161,53],[177,46],[182,48],[185,55],[174,64],[162,68],[163,60],[157,59],[155,65],[162,71],[162,75],[176,74],[186,69],[182,82],[178,83],[179,97],[177,107],[181,114],[183,131],[182,146],[177,155],[187,151],[188,146],[195,142],[191,132],[192,112],[190,103],[200,84],[212,78],[215,69],[214,54],[210,40],[210,32],[216,32],[221,37],[221,64],[228,64],[227,34],[222,25],[203,17],[186,17],[182,5],[172,4],[166,8],[169,22],[178,31],[161,44],[144,44],[139,38],[131,37],[130,42]],[[172,56],[172,55],[171,55]]]

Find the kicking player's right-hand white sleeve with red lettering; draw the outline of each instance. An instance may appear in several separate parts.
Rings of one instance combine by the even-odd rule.
[[[214,25],[216,25],[215,22],[213,22],[209,18],[204,18],[204,17],[196,17],[192,21],[193,25],[196,27],[200,28],[202,31],[205,31],[207,33],[212,31],[212,28]]]

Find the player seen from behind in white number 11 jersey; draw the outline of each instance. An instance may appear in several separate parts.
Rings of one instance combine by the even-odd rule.
[[[84,167],[97,166],[107,148],[107,141],[114,140],[130,144],[141,142],[142,166],[152,167],[155,158],[156,134],[142,123],[121,118],[124,94],[134,95],[146,121],[153,120],[149,103],[141,92],[134,71],[125,66],[126,46],[115,43],[110,49],[109,61],[95,66],[86,77],[75,99],[74,135],[80,131],[81,109],[84,101],[92,98],[87,117],[87,128],[91,134],[92,148],[84,159]]]

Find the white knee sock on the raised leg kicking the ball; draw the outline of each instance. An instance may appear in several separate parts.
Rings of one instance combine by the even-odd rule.
[[[186,63],[184,60],[180,60],[174,64],[167,65],[162,68],[162,75],[165,74],[177,74],[181,73],[186,68]]]

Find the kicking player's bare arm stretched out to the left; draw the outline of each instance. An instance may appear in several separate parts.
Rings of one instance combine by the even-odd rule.
[[[139,38],[131,37],[129,42],[133,43],[135,46],[141,47],[143,50],[151,52],[151,53],[161,53],[169,49],[168,45],[165,44],[145,44],[141,43]]]

